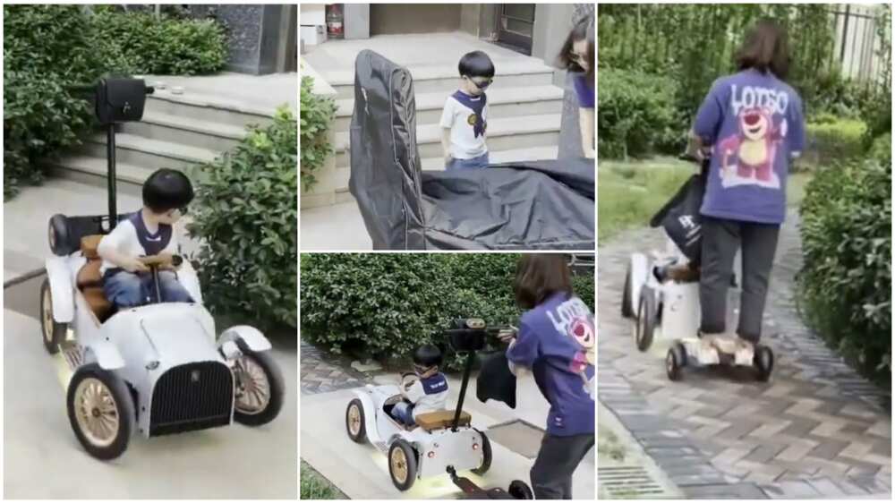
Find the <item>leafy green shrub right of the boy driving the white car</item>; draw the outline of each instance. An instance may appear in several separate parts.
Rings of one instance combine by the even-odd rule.
[[[295,118],[277,110],[274,124],[250,127],[230,152],[200,166],[190,233],[212,312],[296,324],[298,253]]]

